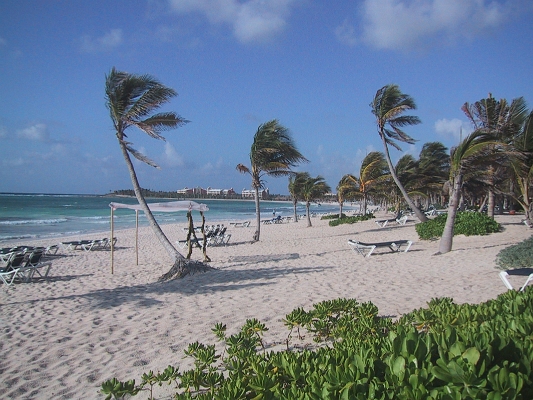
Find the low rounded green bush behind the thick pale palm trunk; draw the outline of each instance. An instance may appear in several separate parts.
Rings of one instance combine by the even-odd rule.
[[[447,214],[441,214],[427,222],[416,224],[415,229],[419,238],[421,240],[429,240],[441,237],[447,217]],[[487,235],[500,230],[500,224],[487,215],[462,211],[458,212],[455,217],[453,234],[465,236]]]

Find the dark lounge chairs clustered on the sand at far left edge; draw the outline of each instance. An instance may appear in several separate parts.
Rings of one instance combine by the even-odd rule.
[[[2,259],[4,265],[0,267],[0,281],[7,287],[16,280],[29,282],[36,276],[47,278],[52,262],[43,260],[45,254],[44,247],[5,253],[6,257]]]

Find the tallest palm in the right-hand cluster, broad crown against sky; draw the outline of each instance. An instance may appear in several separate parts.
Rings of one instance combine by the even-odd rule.
[[[502,143],[510,144],[519,135],[520,129],[527,117],[527,107],[523,97],[513,99],[509,103],[506,99],[496,100],[489,93],[489,97],[476,101],[474,104],[465,103],[461,110],[470,120],[474,129],[482,130],[496,137]],[[498,178],[506,182],[503,176],[504,166],[509,165],[509,154],[501,154],[486,166],[485,184],[488,188],[487,214],[494,217],[494,197]]]

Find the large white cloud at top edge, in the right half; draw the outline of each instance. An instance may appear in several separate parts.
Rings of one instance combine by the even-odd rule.
[[[472,39],[502,25],[516,4],[517,0],[364,0],[360,40],[379,49],[411,50]],[[346,21],[337,30],[356,40]]]

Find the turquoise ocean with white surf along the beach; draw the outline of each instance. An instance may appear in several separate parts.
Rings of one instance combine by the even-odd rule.
[[[174,199],[175,200],[175,199]],[[173,201],[147,199],[148,203]],[[217,221],[254,220],[253,200],[208,200],[197,199],[206,204],[206,224]],[[48,237],[74,236],[108,232],[110,228],[109,203],[137,204],[135,198],[70,195],[70,194],[0,194],[0,242],[16,239],[46,239]],[[291,216],[290,202],[261,201],[261,219],[276,215]],[[349,209],[347,207],[346,209]],[[298,214],[305,214],[305,205],[298,204]],[[311,212],[338,213],[337,203],[312,204]],[[195,218],[197,212],[193,212]],[[186,212],[154,213],[161,224],[186,223]],[[139,212],[139,225],[148,225],[143,212]],[[135,227],[135,212],[118,209],[114,212],[114,228]]]

